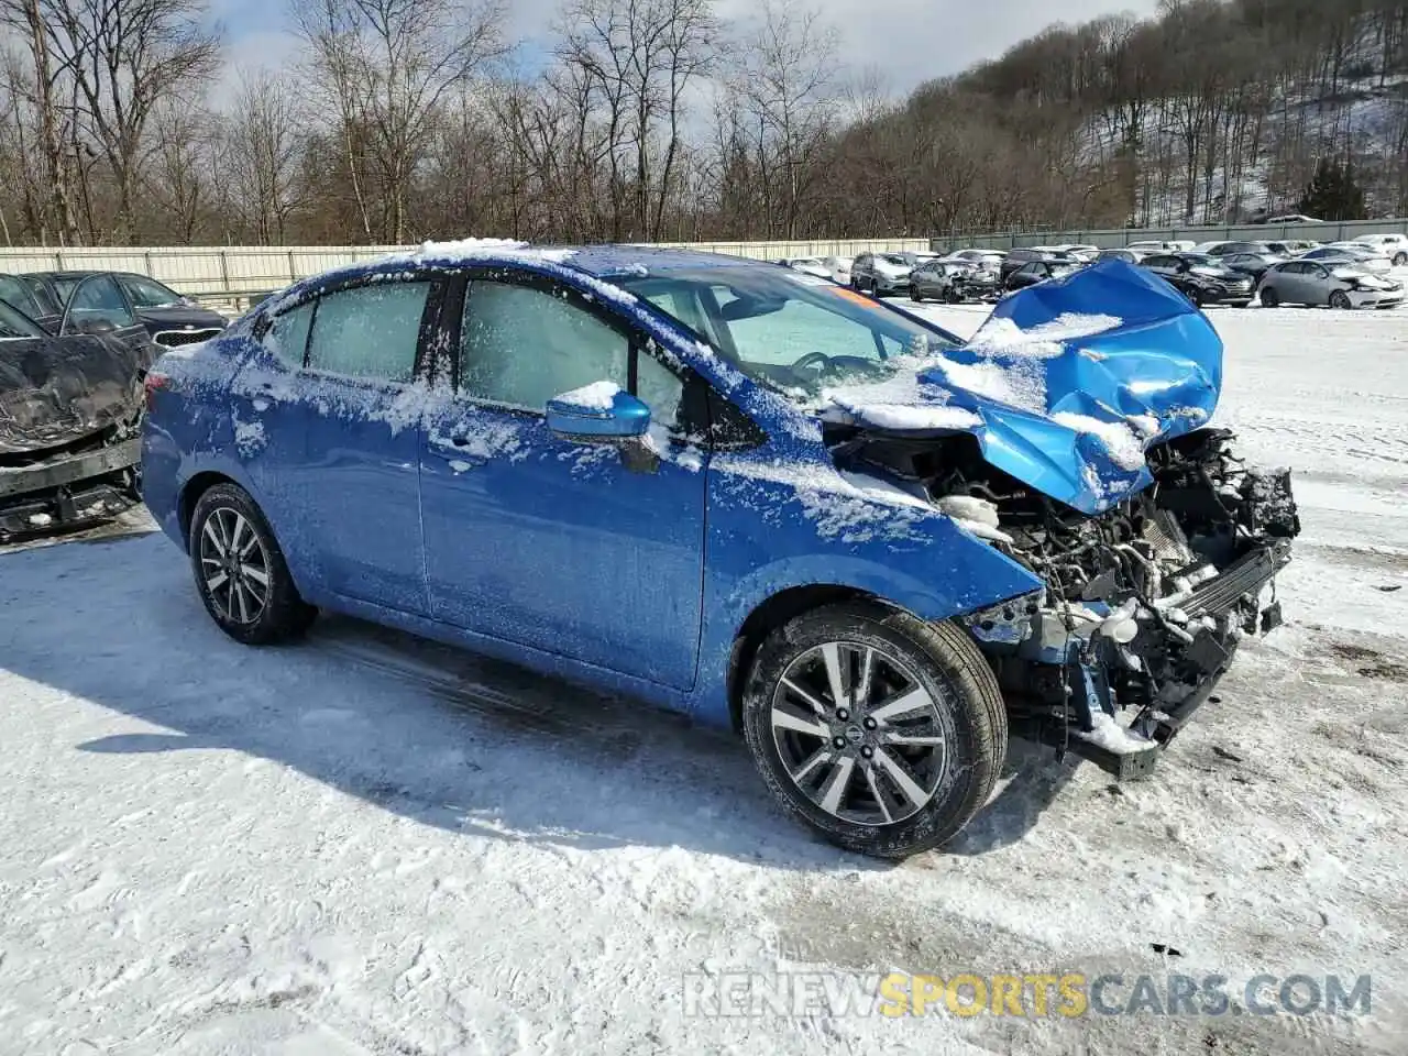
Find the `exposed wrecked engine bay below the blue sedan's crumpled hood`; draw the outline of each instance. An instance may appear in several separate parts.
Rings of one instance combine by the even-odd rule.
[[[994,469],[972,436],[862,432],[834,453],[922,489],[1043,580],[969,628],[1017,729],[1117,774],[1148,770],[1240,638],[1281,621],[1273,577],[1300,532],[1290,472],[1249,469],[1225,429],[1153,445],[1153,484],[1095,515]]]

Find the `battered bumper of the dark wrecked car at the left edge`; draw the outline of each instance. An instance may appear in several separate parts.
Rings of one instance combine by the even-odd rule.
[[[141,501],[141,441],[0,472],[0,538],[73,528],[114,517]]]

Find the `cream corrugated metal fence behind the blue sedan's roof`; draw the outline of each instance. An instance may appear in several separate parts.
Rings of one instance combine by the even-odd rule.
[[[812,242],[674,242],[712,253],[777,260],[793,256],[855,256],[876,251],[928,249],[925,238],[822,239]],[[180,293],[203,298],[242,300],[329,268],[372,260],[415,246],[104,246],[0,248],[0,272],[103,270],[137,272]]]

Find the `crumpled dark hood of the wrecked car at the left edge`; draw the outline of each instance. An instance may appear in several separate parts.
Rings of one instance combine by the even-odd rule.
[[[42,451],[135,418],[151,348],[90,335],[6,342],[0,453]]]

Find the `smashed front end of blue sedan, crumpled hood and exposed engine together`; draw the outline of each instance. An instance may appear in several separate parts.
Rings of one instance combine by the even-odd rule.
[[[1200,427],[1221,384],[1207,320],[1133,269],[1083,276],[1018,294],[949,353],[979,380],[1028,380],[1025,404],[964,390],[943,363],[928,377],[948,384],[919,373],[905,418],[922,425],[932,407],[935,428],[887,429],[856,389],[832,397],[829,439],[841,465],[897,479],[1045,584],[964,622],[1014,732],[1129,777],[1242,638],[1281,622],[1274,577],[1300,520],[1288,470],[1252,469],[1231,432]],[[955,411],[962,428],[945,421]]]

